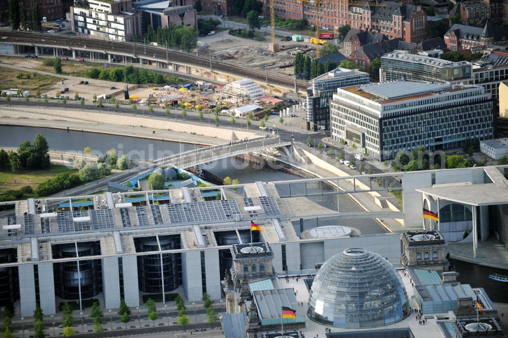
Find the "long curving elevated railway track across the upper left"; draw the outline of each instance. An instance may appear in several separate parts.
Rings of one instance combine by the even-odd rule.
[[[210,61],[208,58],[196,56],[191,53],[175,51],[152,45],[145,46],[143,44],[140,45],[139,43],[132,42],[106,41],[74,36],[12,31],[1,32],[0,37],[2,37],[0,39],[0,43],[29,43],[30,45],[37,45],[41,47],[75,48],[80,50],[102,51],[110,54],[120,53],[144,59],[157,60],[159,62],[180,63],[183,65],[201,66],[206,68],[209,68],[211,63],[211,68],[216,71],[242,76],[261,82],[265,82],[267,79],[264,72],[224,62],[217,62],[214,60]],[[268,74],[268,83],[284,86],[286,88],[294,88],[295,86],[294,79],[274,74]],[[307,81],[297,80],[296,87],[298,90],[304,90],[309,87],[309,83]]]

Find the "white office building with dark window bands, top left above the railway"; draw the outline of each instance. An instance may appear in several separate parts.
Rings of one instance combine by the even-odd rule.
[[[91,38],[130,41],[139,34],[132,0],[75,0],[72,32]]]

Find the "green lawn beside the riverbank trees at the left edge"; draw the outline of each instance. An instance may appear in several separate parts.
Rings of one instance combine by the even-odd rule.
[[[31,186],[32,189],[36,190],[42,181],[66,172],[75,172],[75,170],[66,166],[51,164],[47,170],[22,170],[17,173],[0,172],[0,193],[6,190],[18,190],[23,186]],[[14,185],[14,180],[16,180],[16,185]],[[7,186],[5,182],[7,182]]]

